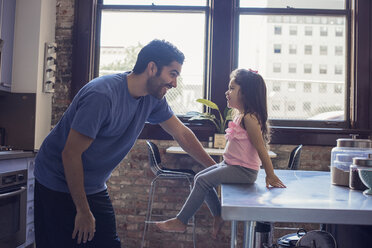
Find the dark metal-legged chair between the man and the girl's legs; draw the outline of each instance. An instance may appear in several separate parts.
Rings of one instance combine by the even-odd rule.
[[[149,200],[147,205],[145,226],[143,229],[141,248],[145,245],[146,232],[148,230],[148,224],[155,223],[151,220],[152,217],[152,204],[154,202],[154,193],[156,189],[156,182],[159,180],[187,180],[189,183],[190,192],[193,187],[193,180],[195,172],[192,170],[182,170],[182,169],[168,169],[161,166],[160,154],[157,146],[151,141],[146,140],[148,146],[148,155],[150,169],[155,174],[155,178],[151,181],[150,191],[149,191]],[[193,216],[190,223],[193,227],[193,245],[196,247],[196,233],[195,233],[195,217]]]

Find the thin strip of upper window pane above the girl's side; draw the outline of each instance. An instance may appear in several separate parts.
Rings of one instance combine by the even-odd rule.
[[[242,8],[303,8],[303,9],[345,9],[345,0],[240,0]]]

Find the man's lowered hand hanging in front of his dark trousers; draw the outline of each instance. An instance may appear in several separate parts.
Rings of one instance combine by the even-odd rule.
[[[77,243],[80,244],[81,241],[86,243],[87,240],[91,241],[94,237],[94,232],[96,231],[96,219],[94,218],[92,212],[77,212],[75,216],[75,227],[72,232],[72,239],[75,239],[77,235]]]

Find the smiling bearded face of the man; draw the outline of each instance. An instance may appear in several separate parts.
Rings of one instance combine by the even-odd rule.
[[[152,76],[147,80],[147,92],[162,99],[167,91],[177,87],[177,77],[181,73],[182,65],[176,61],[168,66],[163,66],[159,76]]]

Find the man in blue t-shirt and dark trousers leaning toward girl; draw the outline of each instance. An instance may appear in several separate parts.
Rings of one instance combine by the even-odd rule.
[[[38,248],[120,247],[106,181],[146,121],[160,123],[204,166],[215,164],[164,98],[177,86],[183,61],[172,44],[153,40],[132,72],[96,78],[75,96],[36,157]]]

